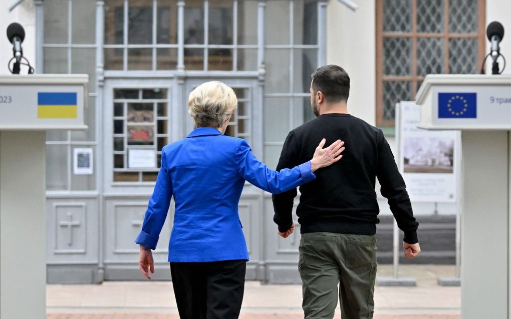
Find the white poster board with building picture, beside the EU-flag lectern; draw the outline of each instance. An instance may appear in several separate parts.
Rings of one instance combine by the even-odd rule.
[[[458,196],[459,131],[427,131],[417,128],[421,108],[414,102],[396,105],[398,165],[410,200],[454,203]]]

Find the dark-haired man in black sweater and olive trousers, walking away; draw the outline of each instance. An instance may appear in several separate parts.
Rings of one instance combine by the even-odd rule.
[[[315,119],[289,132],[277,170],[293,167],[314,154],[310,145],[322,137],[345,141],[342,161],[319,169],[317,179],[300,186],[296,209],[301,240],[298,270],[303,281],[306,319],[332,318],[341,304],[342,319],[372,318],[376,278],[376,224],[379,222],[375,178],[404,231],[404,254],[421,249],[417,222],[406,186],[383,132],[350,115],[350,77],[340,66],[326,65],[312,74],[311,105]],[[296,188],[273,195],[274,221],[286,238],[294,230]],[[337,285],[339,296],[337,297]]]

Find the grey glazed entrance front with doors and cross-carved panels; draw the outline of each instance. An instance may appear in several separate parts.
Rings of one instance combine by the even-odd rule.
[[[276,166],[293,127],[313,114],[310,75],[326,63],[327,3],[215,0],[35,2],[39,72],[88,73],[86,132],[47,135],[48,281],[140,278],[140,231],[161,148],[193,129],[189,93],[221,80],[239,107],[227,134]],[[278,30],[278,32],[276,32]],[[93,154],[90,174],[78,155]],[[173,205],[171,205],[173,206]],[[297,238],[279,240],[270,194],[246,184],[240,218],[247,279],[294,264]],[[154,252],[168,278],[173,208]]]

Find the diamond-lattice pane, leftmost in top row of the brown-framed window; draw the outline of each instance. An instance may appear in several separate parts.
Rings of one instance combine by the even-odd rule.
[[[383,19],[384,32],[411,32],[412,2],[385,0],[383,2]]]

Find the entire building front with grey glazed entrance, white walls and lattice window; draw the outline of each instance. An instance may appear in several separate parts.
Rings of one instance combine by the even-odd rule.
[[[275,167],[289,130],[314,116],[309,86],[318,66],[347,70],[350,112],[392,145],[394,103],[413,100],[427,73],[478,72],[486,24],[511,27],[506,0],[356,3],[352,11],[337,0],[25,0],[0,11],[26,26],[37,72],[89,75],[89,129],[47,134],[48,281],[142,279],[134,238],[162,146],[193,128],[188,94],[200,83],[235,89],[239,108],[226,134]],[[501,52],[511,56],[505,39]],[[452,204],[413,205],[419,215],[455,212]],[[299,225],[280,238],[271,195],[248,183],[239,212],[247,279],[297,282]],[[156,279],[170,278],[172,219],[171,204]]]

